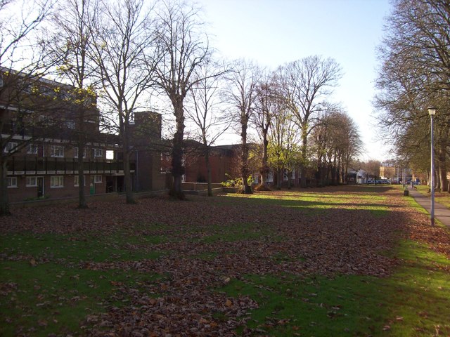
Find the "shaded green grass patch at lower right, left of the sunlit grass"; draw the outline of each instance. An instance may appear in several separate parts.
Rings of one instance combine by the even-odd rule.
[[[229,296],[247,295],[257,300],[248,327],[255,335],[270,336],[364,336],[387,315],[379,289],[371,277],[248,275],[221,289]],[[243,330],[241,327],[238,331]]]

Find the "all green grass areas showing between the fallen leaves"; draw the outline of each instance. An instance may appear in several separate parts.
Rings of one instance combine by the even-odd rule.
[[[387,187],[371,186],[340,193],[228,194],[208,202],[244,204],[268,216],[274,208],[298,209],[299,218],[306,216],[302,218],[306,223],[314,219],[311,214],[320,216],[334,209],[361,211],[361,218],[384,221],[395,211],[383,194],[385,190]],[[409,207],[418,207],[413,198],[407,200]],[[160,246],[176,245],[181,239],[197,246],[180,258],[212,263],[226,251],[214,244],[232,243],[230,253],[236,254],[246,243],[283,243],[286,238],[278,233],[277,221],[261,225],[236,220],[226,225],[178,228],[142,222],[108,233],[1,234],[0,336],[87,335],[102,312],[129,305],[130,298],[122,288],[136,289],[143,296],[161,296],[148,292],[148,286],[171,277],[121,267],[92,270],[90,263],[164,259],[173,252]],[[250,319],[237,329],[238,335],[253,329],[254,336],[450,336],[449,258],[406,239],[383,254],[400,261],[389,277],[252,274],[231,279],[215,291],[257,301],[258,308],[248,312]],[[281,265],[306,259],[280,251],[271,254],[270,260]],[[167,296],[171,296],[170,290]],[[86,316],[91,322],[86,322]],[[223,310],[216,310],[214,318],[229,319]]]

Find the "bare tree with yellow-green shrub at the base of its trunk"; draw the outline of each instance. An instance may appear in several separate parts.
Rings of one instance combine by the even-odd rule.
[[[245,60],[238,60],[236,68],[229,77],[230,91],[229,103],[233,106],[233,119],[240,127],[240,176],[242,178],[243,193],[251,193],[252,187],[248,185],[250,169],[248,167],[248,126],[255,113],[257,101],[257,86],[261,71],[257,65]]]

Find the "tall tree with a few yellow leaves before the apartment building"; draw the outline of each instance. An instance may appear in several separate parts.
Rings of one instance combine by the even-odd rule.
[[[98,11],[97,0],[68,0],[60,4],[53,16],[53,37],[50,39],[53,58],[58,64],[58,75],[70,81],[74,90],[68,100],[77,107],[75,111],[78,147],[78,208],[86,209],[84,192],[84,158],[86,143],[91,136],[86,130],[86,119],[98,118],[96,94],[93,88],[94,62],[91,59],[93,48],[93,27]]]

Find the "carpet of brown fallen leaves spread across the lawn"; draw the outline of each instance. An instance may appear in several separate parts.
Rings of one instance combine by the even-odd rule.
[[[380,195],[334,188],[309,195],[289,192],[280,197],[277,197],[278,192],[264,192],[250,199],[191,197],[189,201],[167,201],[155,198],[143,199],[136,205],[96,202],[92,209],[83,211],[70,205],[46,206],[40,212],[15,210],[10,218],[1,219],[4,233],[1,265],[5,268],[6,263],[33,258],[39,266],[50,266],[63,263],[64,260],[60,260],[63,256],[72,263],[70,267],[75,275],[82,275],[84,270],[123,275],[118,277],[120,281],[111,279],[116,283],[113,294],[101,300],[104,310],[86,312],[82,322],[72,324],[70,329],[75,329],[75,333],[81,329],[76,326],[83,326],[83,333],[88,329],[94,336],[111,333],[234,336],[236,331],[261,335],[270,331],[276,333],[278,328],[274,325],[282,326],[284,330],[280,328],[280,331],[301,333],[304,324],[312,331],[319,331],[318,322],[294,322],[283,317],[288,313],[278,309],[283,315],[270,314],[267,326],[245,328],[252,326],[252,313],[258,308],[270,308],[271,301],[276,303],[276,300],[264,293],[263,297],[255,297],[251,292],[227,293],[217,289],[245,282],[246,275],[281,279],[292,275],[287,289],[293,291],[293,284],[297,284],[303,292],[301,285],[305,277],[314,275],[331,280],[343,277],[339,275],[384,279],[401,263],[401,258],[386,253],[395,251],[401,236],[425,242],[448,258],[448,233],[442,230],[430,233],[425,225],[426,218],[405,209],[404,199],[397,197],[397,193],[383,191]],[[276,201],[271,202],[271,195]],[[296,195],[300,196],[298,201],[295,201]],[[264,202],[258,200],[259,196],[265,198]],[[288,198],[288,202],[283,204],[283,198]],[[326,211],[314,213],[315,199],[316,204],[328,205]],[[340,199],[345,201],[345,208],[339,207]],[[305,208],[296,209],[296,202]],[[348,207],[349,204],[352,206]],[[376,209],[377,204],[380,209],[389,209],[389,213],[375,216],[372,209]],[[20,236],[23,241],[17,239]],[[53,236],[54,240],[44,240],[44,244],[34,246],[39,240],[42,243],[46,236]],[[4,248],[3,243],[13,237],[15,244]],[[70,246],[65,242],[68,237],[73,238]],[[2,286],[14,284],[13,275],[8,270],[4,274]],[[147,274],[160,277],[140,284],[131,282],[133,277],[126,277]],[[256,286],[269,285],[260,282]],[[275,289],[278,292],[279,287],[283,289],[278,286]],[[298,296],[302,296],[302,291],[297,291]],[[349,297],[359,300],[356,293],[350,293]],[[286,295],[284,291],[283,294],[293,297],[292,293]],[[364,303],[367,298],[360,295]],[[264,296],[269,296],[269,300],[264,302]],[[278,305],[289,307],[290,302],[286,303],[283,296],[281,302],[284,302]],[[320,296],[319,293],[317,297]],[[315,296],[303,294],[301,298],[312,298],[309,303],[321,304],[314,302]],[[13,302],[7,300],[0,306],[1,311],[12,305]],[[326,310],[317,312],[325,315],[329,324],[334,324],[345,312],[333,309],[339,308],[336,305],[339,303],[326,303]],[[277,324],[274,319],[278,319]],[[42,320],[49,322],[51,317],[42,317]],[[373,333],[383,331],[383,326],[389,322],[372,318],[368,323],[363,319],[363,323],[368,326],[367,331]],[[46,331],[39,322],[28,322],[28,329]],[[65,327],[58,329],[67,332]],[[351,326],[342,329],[348,329],[345,333],[356,331]]]

